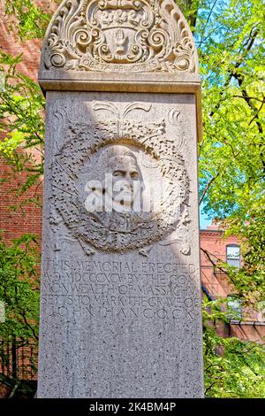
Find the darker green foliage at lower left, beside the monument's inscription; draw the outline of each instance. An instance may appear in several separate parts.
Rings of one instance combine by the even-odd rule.
[[[0,374],[12,389],[19,387],[19,355],[34,351],[27,357],[27,371],[36,374],[39,321],[39,268],[37,242],[33,235],[24,235],[11,244],[0,236],[0,299],[4,306],[0,325],[1,362],[9,374]],[[27,383],[24,383],[27,389]]]

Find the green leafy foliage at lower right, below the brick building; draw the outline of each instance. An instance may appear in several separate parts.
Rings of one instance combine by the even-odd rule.
[[[203,302],[204,381],[206,397],[265,397],[264,346],[235,337],[223,338],[217,329],[230,318],[223,301]],[[223,324],[222,324],[223,323]]]

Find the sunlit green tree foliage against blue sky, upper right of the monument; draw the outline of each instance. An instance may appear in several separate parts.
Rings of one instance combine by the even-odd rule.
[[[241,239],[243,267],[230,276],[243,302],[254,305],[264,297],[264,9],[255,0],[211,4],[200,3],[195,32],[203,81],[201,203],[226,236]]]

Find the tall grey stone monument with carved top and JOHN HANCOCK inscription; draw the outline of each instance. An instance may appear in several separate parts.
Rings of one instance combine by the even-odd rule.
[[[203,397],[201,81],[173,0],[64,0],[47,97],[38,397]]]

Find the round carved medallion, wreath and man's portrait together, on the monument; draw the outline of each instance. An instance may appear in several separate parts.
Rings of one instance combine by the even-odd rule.
[[[167,137],[165,119],[144,123],[130,116],[150,108],[132,103],[120,111],[94,102],[94,112],[110,119],[68,121],[69,139],[51,166],[50,221],[63,220],[87,254],[143,250],[172,233],[185,246],[189,179],[178,144]]]

